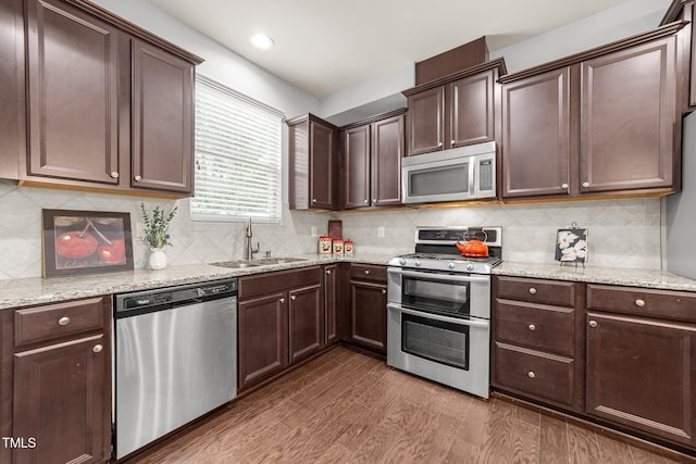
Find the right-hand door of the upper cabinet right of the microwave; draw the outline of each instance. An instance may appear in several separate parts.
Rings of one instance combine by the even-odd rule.
[[[671,187],[676,36],[581,64],[581,191]]]

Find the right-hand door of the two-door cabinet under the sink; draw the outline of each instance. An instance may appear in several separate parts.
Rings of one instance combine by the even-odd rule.
[[[289,291],[290,363],[324,347],[324,304],[321,285]]]

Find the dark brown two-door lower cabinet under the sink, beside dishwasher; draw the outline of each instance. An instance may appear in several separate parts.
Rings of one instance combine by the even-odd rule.
[[[324,348],[322,283],[319,266],[239,279],[238,390]]]

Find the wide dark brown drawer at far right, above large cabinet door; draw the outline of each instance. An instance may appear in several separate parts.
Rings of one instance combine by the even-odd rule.
[[[588,285],[587,309],[696,322],[696,293]]]

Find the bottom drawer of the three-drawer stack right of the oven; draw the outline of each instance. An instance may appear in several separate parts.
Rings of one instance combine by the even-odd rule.
[[[572,359],[505,343],[496,343],[495,350],[498,386],[572,406]]]

